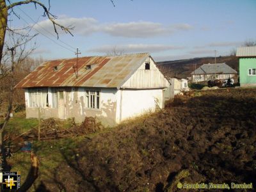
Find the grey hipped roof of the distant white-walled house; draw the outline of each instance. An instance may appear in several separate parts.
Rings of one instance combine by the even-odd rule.
[[[216,63],[216,64],[204,64],[191,74],[236,74],[236,70],[229,67],[226,63]]]

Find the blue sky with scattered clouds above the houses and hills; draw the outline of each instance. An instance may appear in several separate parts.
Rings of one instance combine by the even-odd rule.
[[[104,55],[116,49],[150,52],[156,61],[214,56],[214,50],[219,56],[229,54],[245,40],[256,40],[256,0],[114,3],[115,7],[110,0],[51,1],[51,13],[58,16],[58,22],[75,27],[74,36],[59,29],[60,40],[51,22],[41,16],[42,9],[35,10],[33,4],[15,8],[20,19],[12,15],[10,25],[18,28],[29,23],[36,30],[33,33],[39,31],[33,56],[46,60],[72,58],[76,47],[81,56]]]

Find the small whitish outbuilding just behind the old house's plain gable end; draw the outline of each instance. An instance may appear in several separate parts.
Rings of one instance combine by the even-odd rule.
[[[174,97],[174,95],[179,94],[180,92],[188,92],[188,80],[187,79],[181,79],[179,77],[166,77],[168,81],[170,81],[170,92],[171,95]]]

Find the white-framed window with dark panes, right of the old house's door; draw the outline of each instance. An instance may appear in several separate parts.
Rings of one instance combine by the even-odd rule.
[[[100,109],[100,91],[85,89],[86,108]]]

